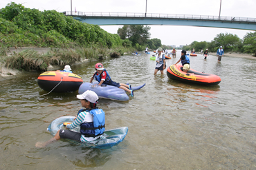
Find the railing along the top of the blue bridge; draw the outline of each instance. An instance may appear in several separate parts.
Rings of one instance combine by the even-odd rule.
[[[143,17],[143,18],[159,18],[159,19],[202,19],[216,21],[244,21],[256,22],[256,18],[246,17],[219,17],[208,15],[193,15],[193,14],[156,14],[156,13],[131,13],[131,12],[75,12],[65,11],[66,15],[80,17]]]

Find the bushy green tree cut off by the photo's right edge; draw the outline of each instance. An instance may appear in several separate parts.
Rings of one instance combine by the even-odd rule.
[[[256,32],[249,32],[244,36],[244,52],[254,53],[256,56]]]

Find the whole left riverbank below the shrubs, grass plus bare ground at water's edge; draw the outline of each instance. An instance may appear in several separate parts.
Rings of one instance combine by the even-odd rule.
[[[113,54],[121,56],[133,50],[125,47],[113,49],[103,47],[79,47],[75,49],[10,47],[6,56],[0,56],[0,81],[14,78],[24,72],[62,70],[64,65],[107,59],[113,56]]]

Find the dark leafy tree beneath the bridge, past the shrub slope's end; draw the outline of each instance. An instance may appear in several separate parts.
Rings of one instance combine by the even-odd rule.
[[[121,39],[129,39],[132,45],[145,45],[150,37],[150,27],[144,25],[124,25],[118,28],[118,35]]]

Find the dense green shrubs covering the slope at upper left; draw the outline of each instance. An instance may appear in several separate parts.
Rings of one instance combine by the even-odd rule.
[[[55,10],[24,8],[8,3],[0,10],[0,38],[8,47],[75,47],[89,43],[102,47],[122,45],[118,34],[110,34],[98,25],[82,23]]]

